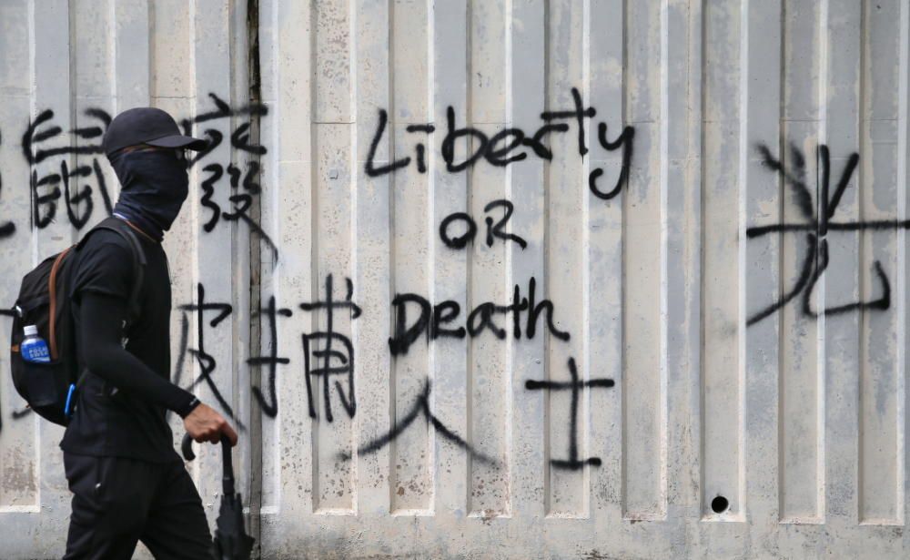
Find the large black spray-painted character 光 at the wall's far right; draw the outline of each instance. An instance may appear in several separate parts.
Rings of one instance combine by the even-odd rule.
[[[823,310],[815,311],[812,308],[812,296],[815,284],[824,273],[828,266],[828,235],[834,231],[864,231],[869,229],[910,229],[910,220],[899,219],[880,219],[880,220],[857,220],[857,221],[834,221],[834,214],[837,211],[841,199],[844,197],[844,191],[850,185],[850,179],[853,177],[854,170],[859,163],[859,155],[851,154],[844,163],[837,183],[834,186],[834,192],[831,192],[831,155],[828,147],[824,144],[818,147],[816,154],[818,175],[817,175],[817,200],[813,203],[812,192],[808,186],[806,178],[805,156],[795,144],[790,145],[790,159],[786,165],[781,159],[774,158],[771,150],[760,144],[757,147],[762,155],[764,165],[772,168],[775,172],[780,173],[784,178],[784,183],[793,189],[796,207],[799,209],[802,220],[792,223],[779,223],[767,226],[754,226],[746,229],[746,236],[750,239],[762,237],[769,233],[780,232],[805,232],[805,257],[800,269],[799,277],[794,283],[793,288],[786,291],[781,297],[768,305],[763,310],[756,311],[746,321],[747,325],[753,325],[767,317],[771,316],[784,305],[794,300],[802,294],[802,305],[800,307],[804,315],[808,317],[817,317],[820,314],[835,315],[848,311],[863,310],[886,310],[891,305],[891,283],[885,274],[882,263],[878,260],[874,263],[875,276],[878,279],[881,296],[875,300],[853,301],[828,307]]]

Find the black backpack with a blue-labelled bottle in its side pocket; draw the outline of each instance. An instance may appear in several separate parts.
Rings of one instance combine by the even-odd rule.
[[[13,386],[29,408],[45,419],[66,426],[75,405],[75,392],[82,384],[85,373],[80,375],[76,361],[76,332],[71,303],[67,297],[73,255],[86,244],[92,233],[99,229],[116,231],[133,249],[135,271],[132,291],[127,307],[126,325],[138,317],[139,290],[146,266],[146,256],[136,239],[136,234],[125,221],[117,218],[102,220],[76,245],[41,261],[25,274],[19,297],[15,300],[13,331],[10,334],[10,368]],[[25,361],[20,345],[25,339],[25,325],[35,325],[38,336],[47,343],[51,361]]]

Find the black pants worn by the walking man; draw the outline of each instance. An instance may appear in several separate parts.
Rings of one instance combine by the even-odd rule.
[[[211,557],[206,512],[183,463],[64,453],[73,495],[64,560]]]

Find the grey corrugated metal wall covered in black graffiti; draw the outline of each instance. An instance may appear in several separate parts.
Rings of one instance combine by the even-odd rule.
[[[161,107],[263,557],[903,558],[908,56],[908,0],[0,0],[0,300]],[[23,406],[0,557],[58,557]]]

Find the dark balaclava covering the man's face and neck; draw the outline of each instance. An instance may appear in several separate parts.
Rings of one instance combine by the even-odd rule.
[[[114,213],[161,241],[187,199],[187,164],[173,149],[120,150],[109,159],[122,187]]]

